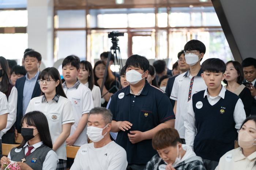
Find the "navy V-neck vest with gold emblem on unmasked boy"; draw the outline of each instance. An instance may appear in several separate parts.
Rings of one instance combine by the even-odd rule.
[[[211,106],[207,96],[204,97],[204,91],[192,97],[197,130],[194,151],[203,159],[219,161],[222,155],[234,149],[234,142],[238,135],[235,128],[234,109],[239,97],[226,90],[225,98],[221,98]]]

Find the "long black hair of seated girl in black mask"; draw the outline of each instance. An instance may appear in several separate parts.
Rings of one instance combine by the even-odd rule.
[[[32,111],[26,113],[21,122],[20,126],[22,126],[22,122],[26,121],[26,124],[29,126],[35,126],[38,130],[38,135],[40,136],[41,141],[48,146],[49,148],[52,149],[52,139],[50,135],[50,130],[49,130],[49,125],[48,125],[48,120],[46,116],[40,112],[40,111]],[[23,139],[22,143],[20,146],[17,148],[20,149],[26,144],[26,141]]]

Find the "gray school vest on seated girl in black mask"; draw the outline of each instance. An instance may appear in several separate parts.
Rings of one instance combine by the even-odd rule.
[[[50,150],[52,149],[43,144],[41,147],[29,154],[24,163],[30,166],[33,170],[42,170],[45,157]],[[12,148],[10,152],[11,160],[15,162],[22,162],[21,159],[25,158],[24,152],[25,149],[23,149],[23,147],[21,149],[17,149],[16,147]]]

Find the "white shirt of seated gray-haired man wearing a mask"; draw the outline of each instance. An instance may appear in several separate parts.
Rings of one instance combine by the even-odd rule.
[[[70,170],[126,170],[126,151],[114,141],[101,148],[94,143],[82,145]]]

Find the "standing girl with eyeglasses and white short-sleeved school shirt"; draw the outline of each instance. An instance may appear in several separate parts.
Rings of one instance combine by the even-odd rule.
[[[39,75],[38,83],[42,90],[41,96],[30,100],[26,113],[37,110],[45,114],[52,138],[52,149],[59,158],[57,170],[61,170],[67,160],[66,139],[75,122],[72,105],[64,93],[56,68],[45,68]]]

